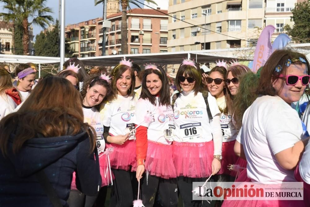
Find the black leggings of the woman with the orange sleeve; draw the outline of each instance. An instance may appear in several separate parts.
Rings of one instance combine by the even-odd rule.
[[[158,202],[165,207],[178,205],[178,186],[175,178],[164,179],[154,175],[143,174],[141,183],[141,200],[145,207],[153,207],[158,191]]]

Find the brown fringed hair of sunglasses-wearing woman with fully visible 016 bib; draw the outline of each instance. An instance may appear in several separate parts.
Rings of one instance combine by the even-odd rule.
[[[203,90],[203,85],[202,85],[202,75],[200,72],[200,67],[199,65],[194,62],[195,67],[191,66],[191,65],[184,65],[181,64],[179,69],[178,69],[178,73],[176,74],[176,78],[175,78],[175,85],[176,85],[176,89],[181,92],[181,86],[180,86],[180,81],[179,81],[179,76],[183,76],[183,74],[185,75],[185,77],[193,77],[195,78],[196,82],[194,85],[194,91],[195,91],[195,95],[197,95],[198,92],[202,92]]]

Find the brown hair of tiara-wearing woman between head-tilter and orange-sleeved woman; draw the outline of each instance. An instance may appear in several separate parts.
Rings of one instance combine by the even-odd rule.
[[[116,82],[123,75],[123,73],[125,73],[127,69],[129,69],[131,77],[131,87],[128,90],[128,96],[131,96],[132,98],[135,97],[135,73],[133,69],[128,67],[127,65],[117,64],[111,72],[111,76],[113,78],[112,88],[114,91],[115,99],[117,98]]]

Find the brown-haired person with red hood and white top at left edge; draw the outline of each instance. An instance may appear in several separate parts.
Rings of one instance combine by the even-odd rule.
[[[21,103],[20,96],[13,87],[11,75],[0,66],[0,120],[11,113]]]

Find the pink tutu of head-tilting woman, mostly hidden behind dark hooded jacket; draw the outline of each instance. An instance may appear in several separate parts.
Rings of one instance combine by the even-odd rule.
[[[110,170],[108,169],[108,160],[106,155],[99,156],[99,165],[100,165],[100,175],[101,175],[101,187],[107,186],[111,183],[111,174]],[[108,172],[106,170],[108,169]],[[72,182],[71,182],[71,189],[77,190],[77,186],[75,183],[75,172],[73,172]],[[114,175],[112,174],[112,179],[114,179]]]

